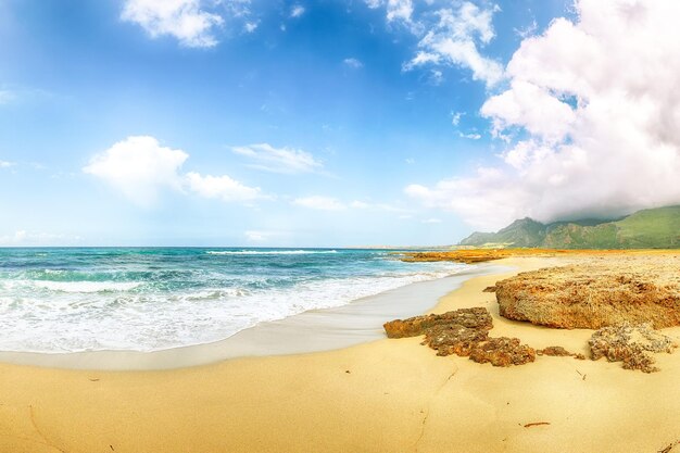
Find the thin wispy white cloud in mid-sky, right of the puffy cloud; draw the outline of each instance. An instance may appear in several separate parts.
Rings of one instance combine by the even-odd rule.
[[[273,173],[314,173],[319,172],[324,164],[314,155],[302,150],[292,148],[274,148],[268,143],[250,144],[248,147],[234,147],[231,150],[243,155],[254,163],[252,168]]]

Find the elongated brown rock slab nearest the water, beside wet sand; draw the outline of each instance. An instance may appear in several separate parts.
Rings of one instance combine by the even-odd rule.
[[[455,310],[443,314],[394,319],[385,323],[382,327],[385,327],[385,331],[389,338],[403,338],[423,335],[430,327],[439,325],[458,325],[469,329],[491,330],[493,322],[487,309],[478,306],[474,309]]]

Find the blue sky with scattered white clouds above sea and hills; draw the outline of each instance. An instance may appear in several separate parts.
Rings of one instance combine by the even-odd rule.
[[[680,203],[675,0],[0,0],[0,246],[451,244]]]

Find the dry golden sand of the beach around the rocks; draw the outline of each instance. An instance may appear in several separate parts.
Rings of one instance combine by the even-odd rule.
[[[469,279],[432,312],[486,306],[493,336],[588,355],[591,330],[501,318],[494,294],[482,292],[574,260],[499,260],[515,270]],[[680,328],[663,331],[680,337]],[[420,341],[166,370],[2,364],[0,451],[656,452],[680,440],[677,354],[657,354],[654,374],[547,356],[496,368],[437,356]]]

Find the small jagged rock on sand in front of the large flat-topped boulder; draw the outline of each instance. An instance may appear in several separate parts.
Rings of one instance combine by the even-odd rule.
[[[591,358],[606,357],[609,362],[624,362],[626,369],[640,369],[654,373],[659,369],[651,353],[672,353],[677,343],[652,328],[651,324],[604,327],[595,331],[588,341]]]

